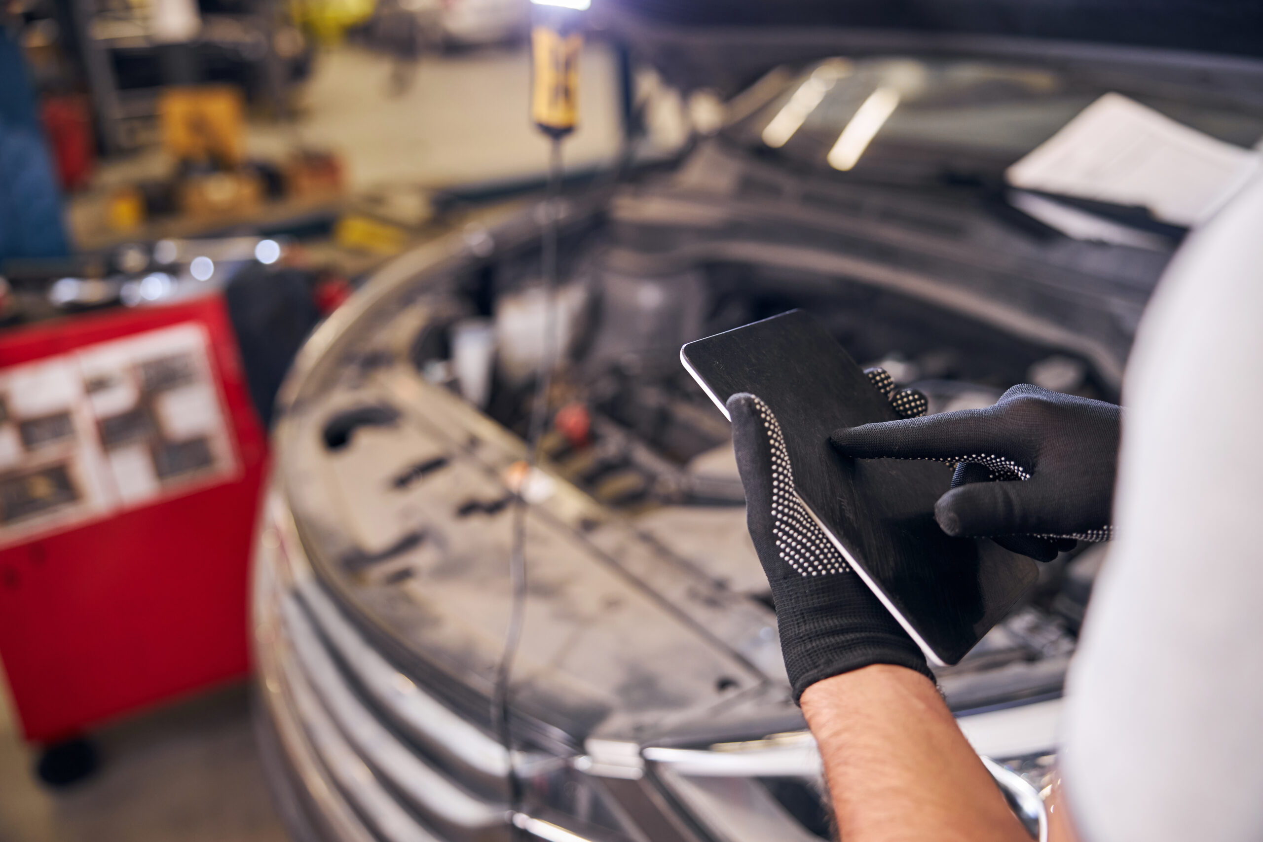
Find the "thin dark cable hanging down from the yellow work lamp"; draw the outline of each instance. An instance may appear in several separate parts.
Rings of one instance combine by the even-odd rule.
[[[513,746],[513,732],[509,726],[509,680],[513,677],[513,661],[522,641],[522,624],[527,607],[527,501],[528,486],[534,478],[536,465],[539,462],[539,443],[548,423],[548,393],[552,389],[556,365],[556,290],[557,290],[557,240],[558,216],[561,215],[561,138],[553,138],[548,155],[548,188],[543,203],[543,237],[541,244],[539,273],[544,289],[543,343],[539,356],[539,374],[536,377],[536,395],[530,406],[530,425],[527,430],[527,470],[518,482],[513,500],[513,550],[509,554],[509,579],[513,586],[513,605],[509,612],[509,629],[504,637],[504,650],[495,672],[495,693],[491,699],[491,717],[509,761],[509,808],[518,813],[522,808],[522,779],[518,775]],[[512,833],[520,838],[524,831],[512,826]]]

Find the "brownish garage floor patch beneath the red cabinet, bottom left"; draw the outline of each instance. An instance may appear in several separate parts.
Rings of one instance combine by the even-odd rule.
[[[0,696],[0,842],[284,842],[244,684],[93,735],[101,769],[53,792]]]

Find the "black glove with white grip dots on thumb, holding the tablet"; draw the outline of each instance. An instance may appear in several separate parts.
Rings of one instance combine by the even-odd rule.
[[[794,701],[818,680],[871,664],[907,667],[933,680],[921,649],[798,500],[781,425],[768,405],[741,393],[727,399],[727,413],[745,523],[772,586]]]

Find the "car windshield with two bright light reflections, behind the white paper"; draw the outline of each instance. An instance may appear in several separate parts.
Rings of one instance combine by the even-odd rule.
[[[1263,104],[1192,78],[917,58],[820,62],[733,133],[787,163],[864,179],[991,182],[1110,91],[1239,146],[1263,136]]]

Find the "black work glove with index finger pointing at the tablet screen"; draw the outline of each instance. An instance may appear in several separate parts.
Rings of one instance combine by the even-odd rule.
[[[1075,540],[1108,540],[1122,413],[1032,385],[986,409],[863,424],[831,437],[856,458],[940,460],[952,490],[935,519],[949,535],[990,537],[1050,560]]]

